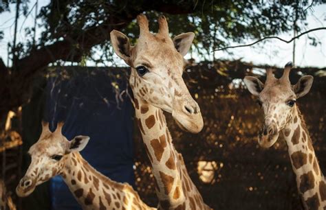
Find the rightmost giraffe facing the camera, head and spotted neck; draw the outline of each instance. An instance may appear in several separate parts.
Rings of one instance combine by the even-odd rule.
[[[280,79],[274,78],[272,70],[268,70],[265,84],[250,76],[244,79],[250,93],[259,97],[265,113],[258,142],[263,148],[269,148],[279,138],[279,132],[283,132],[305,209],[326,209],[325,177],[320,171],[303,115],[296,106],[296,99],[309,92],[314,78],[305,75],[291,85],[291,69],[289,62]]]

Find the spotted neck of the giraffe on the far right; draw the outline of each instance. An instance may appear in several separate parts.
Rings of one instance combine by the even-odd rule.
[[[296,174],[296,185],[306,209],[326,207],[326,183],[320,171],[312,147],[307,126],[298,107],[294,108],[292,119],[283,135],[287,143],[292,169]]]

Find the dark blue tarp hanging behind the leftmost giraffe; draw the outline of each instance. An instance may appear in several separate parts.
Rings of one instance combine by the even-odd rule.
[[[47,83],[45,119],[54,130],[64,121],[63,135],[91,137],[80,152],[96,170],[112,180],[134,185],[133,107],[126,96],[123,102],[116,89],[125,89],[127,80],[107,69],[65,67]],[[112,71],[112,70],[111,70]],[[118,70],[117,70],[118,71]],[[118,76],[119,77],[119,76]],[[60,176],[51,180],[52,209],[81,209]]]

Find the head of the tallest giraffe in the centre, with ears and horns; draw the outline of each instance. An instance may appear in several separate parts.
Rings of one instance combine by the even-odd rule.
[[[149,32],[146,16],[140,14],[137,20],[140,36],[134,46],[121,32],[113,30],[110,33],[114,51],[131,67],[129,83],[133,95],[172,113],[181,128],[199,132],[204,124],[202,114],[182,79],[183,56],[190,49],[195,34],[188,32],[171,39],[164,16],[158,19],[157,34]]]

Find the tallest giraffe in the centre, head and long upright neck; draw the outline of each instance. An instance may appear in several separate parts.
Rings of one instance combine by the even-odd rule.
[[[158,209],[210,209],[188,175],[182,155],[175,150],[163,110],[171,113],[180,128],[197,133],[204,122],[199,106],[189,93],[182,72],[184,58],[195,34],[169,36],[164,16],[157,34],[149,32],[144,14],[137,17],[140,36],[132,46],[129,38],[113,30],[113,50],[131,67],[135,117],[155,178]]]

